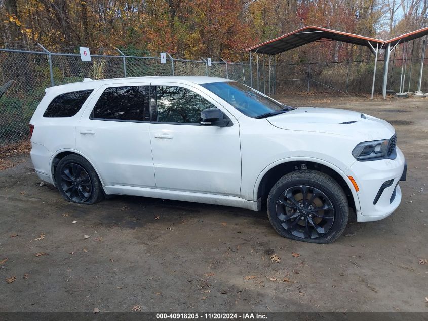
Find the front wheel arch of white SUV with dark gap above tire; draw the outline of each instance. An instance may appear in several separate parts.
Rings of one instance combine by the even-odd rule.
[[[290,159],[279,160],[264,168],[257,177],[256,184],[254,186],[254,200],[261,199],[261,203],[264,203],[270,189],[282,176],[301,169],[318,170],[331,176],[342,187],[348,198],[349,206],[356,213],[357,211],[360,211],[360,201],[358,199],[357,192],[344,171],[329,162],[316,158],[293,157]]]

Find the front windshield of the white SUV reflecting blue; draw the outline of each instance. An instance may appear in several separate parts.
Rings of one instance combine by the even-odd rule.
[[[269,117],[290,110],[287,106],[236,81],[207,83],[201,86],[252,118]]]

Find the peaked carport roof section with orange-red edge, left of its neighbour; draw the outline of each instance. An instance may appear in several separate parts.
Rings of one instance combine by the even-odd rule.
[[[294,49],[322,39],[337,40],[360,46],[366,46],[369,48],[369,43],[373,47],[376,47],[376,44],[379,44],[379,47],[381,47],[384,43],[383,40],[364,37],[363,35],[357,35],[315,26],[307,26],[295,30],[293,32],[284,34],[281,37],[248,48],[247,51],[257,51],[258,53],[262,54],[276,55],[281,52]]]

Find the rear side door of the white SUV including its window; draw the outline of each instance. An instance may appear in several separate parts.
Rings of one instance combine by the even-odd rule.
[[[101,87],[76,127],[77,150],[93,162],[106,186],[155,188],[149,85]]]

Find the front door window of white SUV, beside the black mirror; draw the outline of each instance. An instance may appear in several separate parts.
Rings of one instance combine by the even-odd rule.
[[[158,121],[167,123],[199,123],[201,111],[215,107],[201,95],[187,88],[157,86]]]

